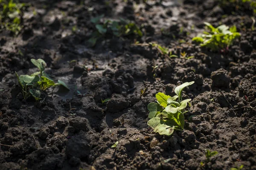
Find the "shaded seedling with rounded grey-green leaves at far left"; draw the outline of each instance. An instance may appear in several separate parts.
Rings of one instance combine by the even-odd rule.
[[[30,96],[33,96],[36,101],[39,101],[41,100],[41,95],[47,88],[55,87],[57,85],[63,85],[69,90],[64,82],[58,80],[58,83],[55,83],[49,75],[45,73],[44,69],[46,67],[46,62],[44,62],[43,59],[31,59],[31,62],[39,68],[40,71],[31,75],[20,76],[15,72],[24,99],[28,99]]]

